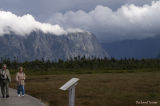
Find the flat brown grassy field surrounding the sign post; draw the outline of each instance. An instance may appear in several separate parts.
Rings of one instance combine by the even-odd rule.
[[[68,92],[59,87],[72,77],[80,78],[76,106],[137,106],[140,100],[160,106],[160,72],[28,75],[26,93],[49,106],[68,106]]]

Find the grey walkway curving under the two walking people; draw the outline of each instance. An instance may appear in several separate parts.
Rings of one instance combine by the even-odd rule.
[[[10,89],[10,98],[2,98],[0,93],[0,106],[46,106],[40,100],[25,95],[25,97],[18,97],[16,90]]]

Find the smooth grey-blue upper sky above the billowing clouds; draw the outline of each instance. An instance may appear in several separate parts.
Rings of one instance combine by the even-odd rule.
[[[0,0],[0,8],[17,15],[29,13],[36,19],[45,21],[55,12],[90,11],[97,5],[105,5],[116,10],[124,4],[141,6],[150,3],[151,0]]]

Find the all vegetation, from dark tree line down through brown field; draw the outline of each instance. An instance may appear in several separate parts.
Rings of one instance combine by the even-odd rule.
[[[72,77],[80,78],[76,106],[137,106],[136,101],[160,103],[160,59],[76,57],[56,62],[1,59],[0,66],[3,63],[8,65],[13,79],[18,67],[23,66],[27,74],[26,93],[49,106],[68,105],[68,92],[59,88]],[[16,88],[14,80],[11,87]]]

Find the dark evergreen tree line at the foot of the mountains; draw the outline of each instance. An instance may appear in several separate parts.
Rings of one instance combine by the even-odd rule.
[[[86,58],[75,57],[69,60],[50,61],[34,60],[18,62],[17,60],[1,59],[2,64],[12,70],[17,70],[19,66],[23,66],[26,70],[32,71],[48,71],[48,70],[136,70],[136,69],[160,69],[160,59],[135,59],[135,58]]]

